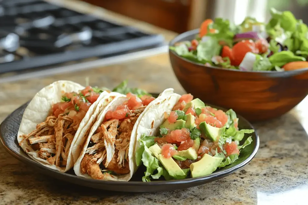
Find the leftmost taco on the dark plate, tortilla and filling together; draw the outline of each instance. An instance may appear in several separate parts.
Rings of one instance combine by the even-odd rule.
[[[36,93],[26,107],[18,143],[31,159],[66,172],[73,167],[72,156],[80,154],[72,152],[73,145],[85,140],[103,106],[118,95],[72,81],[56,81]]]

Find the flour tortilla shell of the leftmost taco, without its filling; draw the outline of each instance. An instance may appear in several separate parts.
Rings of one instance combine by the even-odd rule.
[[[64,93],[71,93],[71,92],[78,92],[85,87],[72,82],[72,81],[56,81],[50,85],[47,85],[45,88],[41,89],[38,93],[35,94],[33,99],[30,101],[28,106],[26,107],[22,120],[19,126],[17,140],[18,143],[22,141],[22,135],[29,134],[34,129],[36,129],[36,125],[44,122],[50,112],[50,109],[53,104],[58,103],[61,101],[62,96]],[[98,102],[107,96],[108,92],[104,91],[100,94],[99,98],[95,103],[93,103],[89,110],[87,111],[85,117],[81,121],[78,130],[73,138],[73,142],[69,149],[69,155],[67,157],[67,165],[64,168],[59,168],[54,164],[49,164],[47,160],[44,160],[39,157],[36,151],[32,149],[30,144],[28,144],[27,140],[24,140],[20,146],[21,148],[30,156],[31,159],[35,160],[36,162],[43,164],[44,166],[58,170],[61,172],[66,172],[70,168],[73,167],[73,160],[72,160],[72,152],[71,148],[73,147],[73,143],[76,142],[77,138],[80,136],[81,138],[85,138],[84,130],[89,129],[89,121],[94,121],[93,119],[93,112],[96,110]],[[76,154],[76,153],[75,153]],[[80,153],[79,153],[80,154]],[[78,154],[78,155],[79,155]],[[77,154],[76,154],[77,155]]]

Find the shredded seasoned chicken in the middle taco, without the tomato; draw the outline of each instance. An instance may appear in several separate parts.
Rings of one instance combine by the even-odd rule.
[[[101,124],[95,134],[91,136],[86,154],[81,162],[83,174],[93,179],[103,179],[108,172],[128,174],[129,142],[132,129],[139,115],[146,106],[130,110],[126,119],[120,121],[110,119]],[[107,150],[109,152],[107,153]],[[107,172],[108,171],[108,172]]]

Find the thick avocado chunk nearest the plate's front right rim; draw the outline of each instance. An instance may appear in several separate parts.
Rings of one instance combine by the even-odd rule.
[[[223,158],[213,157],[208,154],[203,155],[201,160],[190,165],[191,177],[206,176],[212,174],[217,169]]]

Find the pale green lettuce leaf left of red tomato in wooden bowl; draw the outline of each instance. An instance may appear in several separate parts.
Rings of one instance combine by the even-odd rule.
[[[199,61],[209,61],[212,62],[213,56],[218,56],[220,54],[221,45],[219,45],[216,38],[209,38],[205,42],[200,42],[197,46],[197,58]]]

